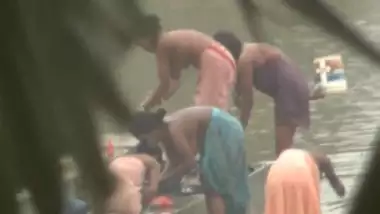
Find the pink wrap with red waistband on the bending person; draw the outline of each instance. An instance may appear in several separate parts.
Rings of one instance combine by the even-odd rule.
[[[207,48],[202,56],[195,105],[228,110],[229,96],[236,79],[232,55],[220,44]]]

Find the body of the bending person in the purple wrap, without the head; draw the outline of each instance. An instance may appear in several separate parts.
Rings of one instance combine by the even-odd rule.
[[[218,34],[214,38],[219,41]],[[323,95],[310,96],[302,72],[281,50],[267,44],[244,44],[237,70],[235,104],[243,127],[251,116],[253,88],[273,98],[278,156],[292,146],[297,127],[309,128],[309,101]]]

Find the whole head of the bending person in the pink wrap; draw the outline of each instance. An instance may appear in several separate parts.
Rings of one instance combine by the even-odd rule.
[[[146,51],[154,52],[162,30],[160,18],[156,15],[147,15],[136,24],[137,26],[133,28],[135,43]]]

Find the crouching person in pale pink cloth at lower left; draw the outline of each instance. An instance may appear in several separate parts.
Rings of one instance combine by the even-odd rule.
[[[108,213],[140,214],[157,192],[161,162],[161,149],[145,142],[138,144],[136,154],[114,159],[109,168],[118,187],[109,201]]]

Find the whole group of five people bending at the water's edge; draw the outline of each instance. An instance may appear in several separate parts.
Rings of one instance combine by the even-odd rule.
[[[140,213],[160,183],[179,182],[198,166],[208,213],[246,213],[250,192],[244,129],[253,106],[253,88],[275,103],[277,159],[266,181],[265,213],[319,214],[322,176],[339,196],[345,194],[326,155],[291,148],[297,127],[309,127],[309,101],[323,96],[309,92],[302,73],[279,49],[242,44],[228,31],[212,37],[195,30],[163,32],[156,16],[146,22],[151,26],[141,28],[135,41],[155,54],[159,85],[130,124],[131,133],[140,140],[136,153],[110,162],[120,182],[109,212]],[[199,70],[194,106],[169,115],[163,109],[150,111],[176,92],[181,71],[190,65]],[[240,109],[240,121],[228,113],[230,94]],[[158,143],[168,157],[164,172]]]

